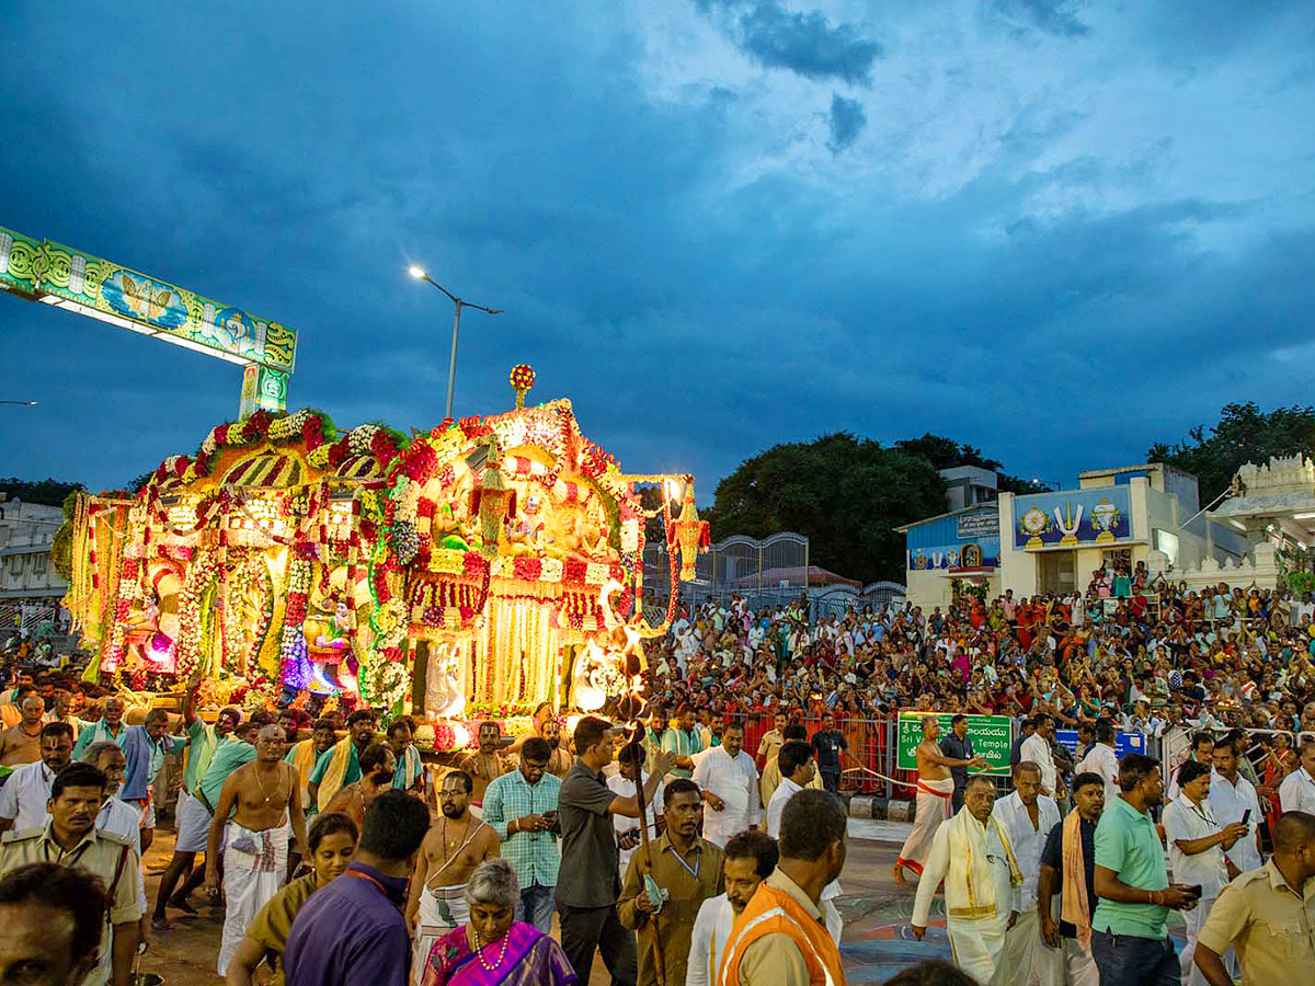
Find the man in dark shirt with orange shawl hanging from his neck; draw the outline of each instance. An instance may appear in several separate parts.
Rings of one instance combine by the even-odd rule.
[[[1095,773],[1073,778],[1073,810],[1051,830],[1041,851],[1036,907],[1041,940],[1061,948],[1069,986],[1099,986],[1101,972],[1091,958],[1091,915],[1095,912],[1095,823],[1105,810],[1105,781]],[[1056,924],[1051,899],[1060,895]]]

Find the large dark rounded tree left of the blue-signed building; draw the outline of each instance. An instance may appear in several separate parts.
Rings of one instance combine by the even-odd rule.
[[[717,484],[705,513],[713,540],[798,531],[810,561],[864,582],[903,578],[903,535],[893,528],[945,509],[931,461],[840,431],[775,446]]]

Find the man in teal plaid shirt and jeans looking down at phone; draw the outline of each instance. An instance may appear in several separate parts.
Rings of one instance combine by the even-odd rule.
[[[558,794],[562,780],[548,773],[552,748],[534,736],[521,747],[521,769],[489,782],[484,820],[502,840],[502,858],[521,881],[515,920],[548,933],[558,885],[562,847],[558,845]]]

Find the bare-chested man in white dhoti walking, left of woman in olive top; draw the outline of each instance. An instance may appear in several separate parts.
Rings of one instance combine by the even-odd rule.
[[[255,740],[255,760],[229,774],[214,806],[205,851],[205,889],[212,897],[220,893],[222,840],[227,904],[220,941],[220,975],[227,975],[229,961],[251,922],[283,885],[288,873],[289,822],[302,858],[309,858],[301,784],[292,764],[283,763],[287,752],[283,727],[275,723],[262,727]]]

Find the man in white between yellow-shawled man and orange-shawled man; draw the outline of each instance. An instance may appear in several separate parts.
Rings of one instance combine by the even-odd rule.
[[[1014,768],[1014,790],[995,802],[992,815],[1005,827],[1014,858],[1023,874],[1019,918],[1005,936],[1005,965],[1016,986],[1060,986],[1064,981],[1063,956],[1044,947],[1036,885],[1041,872],[1041,851],[1051,830],[1060,823],[1055,798],[1041,791],[1041,769],[1031,760]]]

